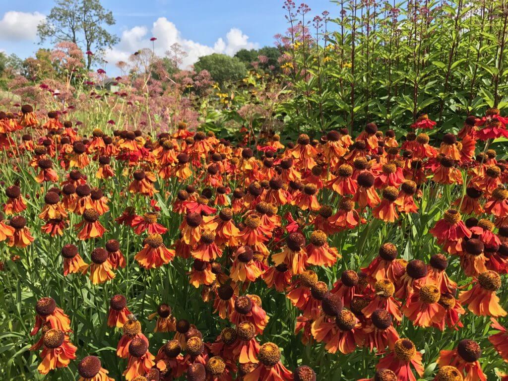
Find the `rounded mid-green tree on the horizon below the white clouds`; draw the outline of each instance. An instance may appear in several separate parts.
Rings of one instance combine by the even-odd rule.
[[[208,71],[213,80],[221,86],[227,81],[240,80],[247,74],[245,65],[238,58],[218,53],[200,57],[194,69],[198,73],[202,70]]]

